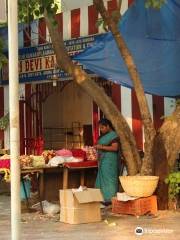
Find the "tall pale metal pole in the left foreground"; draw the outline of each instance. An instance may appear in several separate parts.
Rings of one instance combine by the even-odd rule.
[[[19,79],[17,0],[8,0],[11,239],[20,240]]]

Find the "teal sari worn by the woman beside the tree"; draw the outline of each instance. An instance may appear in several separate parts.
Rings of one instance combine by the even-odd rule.
[[[114,131],[103,135],[98,144],[111,145],[114,139],[117,139]],[[96,188],[100,188],[105,201],[111,201],[111,198],[118,191],[118,151],[99,150],[99,169],[96,178]]]

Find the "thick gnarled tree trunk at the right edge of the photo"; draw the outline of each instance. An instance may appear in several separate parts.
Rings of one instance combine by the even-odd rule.
[[[180,152],[180,106],[165,119],[154,141],[153,159],[155,174],[159,176],[157,189],[159,209],[168,207],[168,185],[164,180],[173,170]]]

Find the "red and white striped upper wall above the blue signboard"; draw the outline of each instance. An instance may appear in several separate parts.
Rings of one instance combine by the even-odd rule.
[[[122,1],[122,14],[128,9],[131,2],[132,0]],[[116,0],[105,2],[109,12],[117,9],[116,4]],[[56,16],[59,31],[62,33],[64,40],[103,33],[103,27],[96,26],[98,18],[100,18],[100,14],[97,13],[93,5],[82,6],[81,8],[59,13]],[[24,29],[23,25],[19,29],[19,48],[37,46],[49,41],[50,36],[44,18],[33,21],[26,29]]]

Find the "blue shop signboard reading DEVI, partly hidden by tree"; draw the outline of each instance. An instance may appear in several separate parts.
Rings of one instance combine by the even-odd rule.
[[[67,40],[64,42],[68,54],[74,56],[91,46],[95,35]],[[88,71],[87,71],[88,72]],[[19,50],[19,82],[47,81],[70,79],[70,75],[57,68],[56,56],[52,43]],[[1,84],[8,84],[8,64],[2,68]]]

